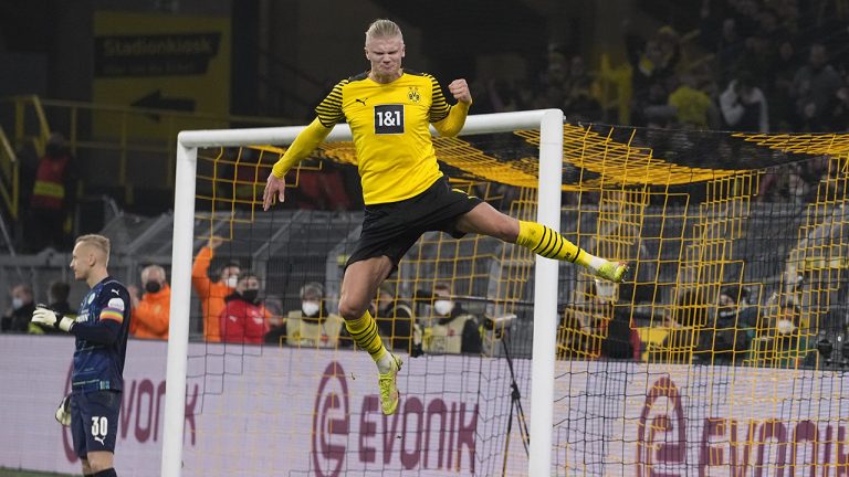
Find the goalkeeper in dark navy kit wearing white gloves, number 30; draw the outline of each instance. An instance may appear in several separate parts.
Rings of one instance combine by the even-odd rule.
[[[117,475],[113,459],[129,330],[129,293],[109,276],[108,262],[108,239],[78,237],[71,268],[74,278],[85,280],[91,289],[83,297],[76,319],[43,306],[32,314],[32,322],[76,337],[71,396],[56,411],[56,420],[71,426],[83,475],[96,477]]]

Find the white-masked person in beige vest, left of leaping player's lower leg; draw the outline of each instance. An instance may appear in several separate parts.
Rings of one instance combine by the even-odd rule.
[[[301,309],[292,310],[285,322],[265,336],[265,342],[305,348],[336,348],[344,332],[345,320],[327,312],[324,286],[311,282],[301,287]]]

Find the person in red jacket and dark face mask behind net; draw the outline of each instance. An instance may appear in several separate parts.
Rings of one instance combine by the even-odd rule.
[[[219,316],[221,341],[260,344],[269,332],[270,314],[260,299],[260,279],[251,272],[242,272],[235,290],[224,298]]]

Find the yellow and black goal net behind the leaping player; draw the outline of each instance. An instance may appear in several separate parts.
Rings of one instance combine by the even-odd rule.
[[[470,117],[488,134],[434,139],[442,170],[518,219],[554,204],[551,223],[628,261],[630,278],[614,286],[494,239],[424,234],[382,290],[401,305],[375,301],[405,358],[392,416],[373,361],[338,332],[363,219],[344,131],[290,172],[286,202],[268,212],[286,128],[181,135],[171,316],[191,319],[171,324],[164,475],[849,471],[849,138],[558,124],[552,141],[538,115],[512,123],[527,117]],[[563,169],[546,188],[541,145],[553,144]],[[224,243],[211,279],[233,262],[259,277],[258,343],[203,340],[189,279],[212,236]],[[473,326],[437,310],[446,287]],[[302,304],[316,295],[311,321]]]

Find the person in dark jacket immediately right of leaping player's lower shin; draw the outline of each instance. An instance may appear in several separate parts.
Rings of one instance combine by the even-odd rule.
[[[396,298],[395,286],[384,284],[377,293],[375,320],[377,329],[388,349],[415,354],[413,330],[418,328],[412,316],[412,307]],[[419,336],[421,331],[419,330]],[[419,339],[418,348],[421,347]]]

